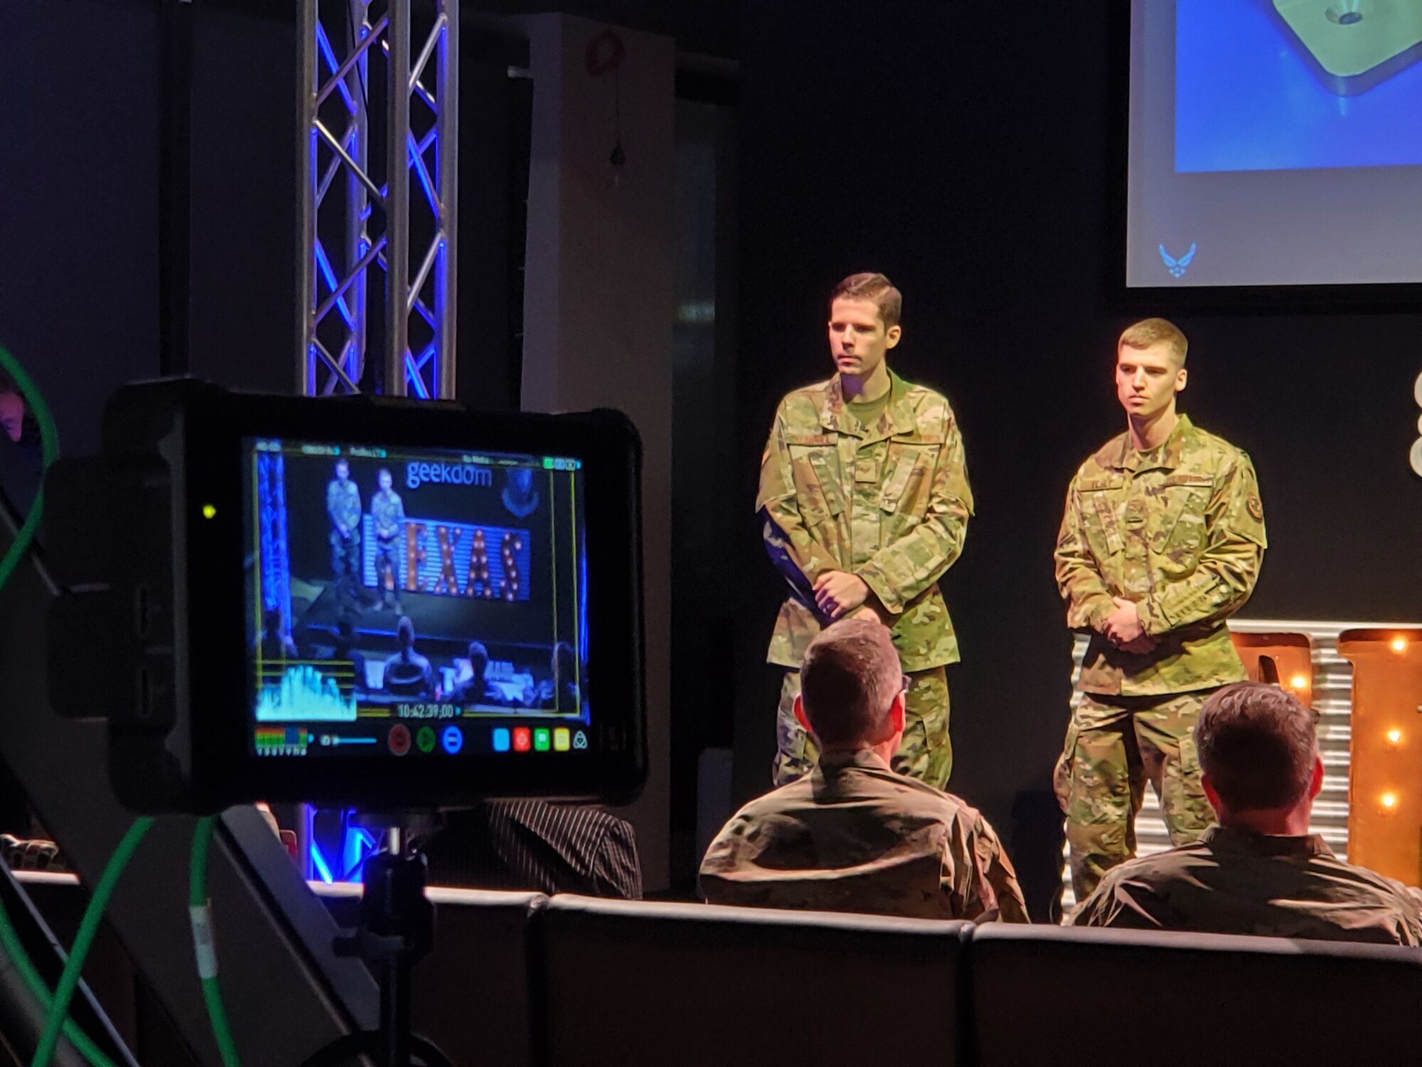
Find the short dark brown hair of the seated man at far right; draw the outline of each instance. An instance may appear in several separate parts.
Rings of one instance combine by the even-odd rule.
[[[1237,681],[1204,701],[1194,747],[1230,811],[1283,808],[1297,804],[1314,777],[1314,713],[1278,686]]]

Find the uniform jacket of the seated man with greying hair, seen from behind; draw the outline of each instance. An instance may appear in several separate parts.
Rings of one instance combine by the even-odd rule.
[[[701,862],[711,903],[1027,922],[1012,864],[967,804],[867,750],[751,801]]]

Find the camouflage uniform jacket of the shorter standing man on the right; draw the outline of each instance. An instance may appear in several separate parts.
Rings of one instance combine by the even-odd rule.
[[[1254,465],[1234,445],[1186,415],[1149,452],[1129,434],[1108,442],[1076,471],[1057,538],[1066,625],[1092,629],[1078,687],[1159,696],[1241,681],[1224,620],[1254,590],[1267,543]],[[1101,633],[1113,596],[1136,605],[1153,652]]]

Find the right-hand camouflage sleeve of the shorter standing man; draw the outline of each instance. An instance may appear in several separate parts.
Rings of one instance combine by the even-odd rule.
[[[1206,508],[1206,531],[1194,573],[1159,586],[1136,605],[1146,633],[1227,619],[1254,592],[1268,541],[1254,464],[1244,452],[1220,474]]]

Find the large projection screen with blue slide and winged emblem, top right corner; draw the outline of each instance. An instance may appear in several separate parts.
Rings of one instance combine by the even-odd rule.
[[[1422,282],[1422,3],[1132,0],[1126,287]]]

